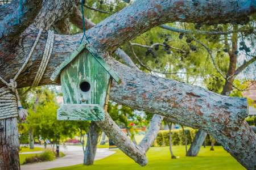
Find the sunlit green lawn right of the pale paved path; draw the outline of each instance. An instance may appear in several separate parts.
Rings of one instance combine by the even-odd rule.
[[[96,160],[94,165],[85,166],[82,164],[56,169],[225,169],[236,170],[245,169],[221,146],[214,146],[215,151],[210,151],[210,146],[201,148],[199,156],[185,156],[185,146],[173,146],[177,159],[171,159],[169,147],[151,147],[147,152],[148,164],[146,167],[140,167],[134,160],[122,153],[120,150],[107,158]]]

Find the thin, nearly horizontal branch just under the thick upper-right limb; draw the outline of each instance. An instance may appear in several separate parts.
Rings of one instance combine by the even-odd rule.
[[[230,34],[230,33],[234,33],[234,32],[245,32],[245,31],[249,31],[249,29],[236,29],[236,30],[232,30],[232,31],[193,31],[193,30],[186,30],[186,29],[179,29],[179,28],[174,28],[174,27],[170,27],[167,25],[159,25],[158,27],[163,28],[163,29],[167,29],[169,31],[173,31],[173,32],[182,32],[182,33],[189,33],[189,34],[193,34],[193,33],[202,33],[202,34],[208,34],[208,35],[224,35],[224,34]],[[255,30],[253,30],[251,33],[254,33]]]

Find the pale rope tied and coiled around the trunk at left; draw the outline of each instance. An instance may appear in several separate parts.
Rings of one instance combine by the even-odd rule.
[[[22,70],[24,70],[24,67],[26,67],[27,62],[31,58],[31,55],[35,49],[35,46],[38,43],[41,32],[42,32],[42,29],[39,30],[38,36],[36,37],[36,40],[34,42],[34,45],[32,46],[32,49],[30,50],[30,53],[28,54],[28,57],[26,58],[25,62],[23,63],[22,67],[19,69],[15,77],[13,79],[10,79],[10,83],[7,83],[0,76],[0,80],[6,85],[6,87],[0,88],[0,120],[10,118],[10,117],[19,117],[22,121],[26,120],[27,111],[22,107],[20,103],[19,94],[16,88],[17,87],[16,79],[18,78]],[[49,62],[49,57],[51,57],[53,39],[54,39],[53,32],[49,31],[42,62],[40,64],[38,73],[36,73],[34,82],[32,83],[32,86],[30,88],[38,86],[40,80],[43,77],[44,71],[46,70],[47,64]]]

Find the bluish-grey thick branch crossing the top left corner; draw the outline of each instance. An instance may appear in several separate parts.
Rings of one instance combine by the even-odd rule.
[[[15,40],[36,18],[43,0],[12,1],[0,7],[0,44]]]

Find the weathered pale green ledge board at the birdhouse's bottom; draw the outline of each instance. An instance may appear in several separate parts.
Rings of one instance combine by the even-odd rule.
[[[98,104],[63,104],[57,110],[57,120],[103,121],[104,114]]]

